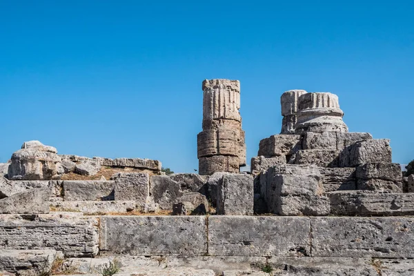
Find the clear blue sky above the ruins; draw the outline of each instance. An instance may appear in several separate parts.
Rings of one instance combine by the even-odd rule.
[[[414,159],[413,1],[0,0],[0,160],[61,154],[198,168],[204,79],[239,79],[248,163],[290,89]]]

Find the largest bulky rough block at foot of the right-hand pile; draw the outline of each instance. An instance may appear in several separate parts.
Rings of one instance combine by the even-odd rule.
[[[323,195],[322,177],[314,169],[302,166],[282,175],[278,172],[284,169],[276,166],[266,172],[263,180],[261,175],[260,190],[268,211],[277,215],[328,215],[329,201]]]

